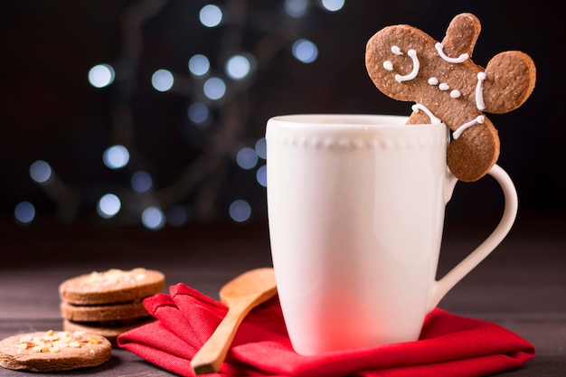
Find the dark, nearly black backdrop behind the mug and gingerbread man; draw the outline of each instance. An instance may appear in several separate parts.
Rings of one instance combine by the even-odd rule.
[[[37,211],[28,228],[54,222],[136,227],[144,206],[166,211],[178,204],[189,213],[185,226],[191,226],[230,222],[228,207],[237,199],[251,205],[247,222],[266,221],[265,187],[255,179],[265,161],[243,170],[235,164],[237,150],[253,147],[267,119],[280,114],[409,115],[410,103],[388,99],[373,87],[364,67],[365,42],[390,24],[412,24],[442,40],[451,18],[462,12],[476,14],[482,23],[472,56],[477,64],[486,66],[507,50],[526,52],[536,64],[536,88],[524,106],[488,117],[499,131],[498,164],[517,187],[520,216],[564,218],[566,14],[560,2],[346,0],[342,10],[331,13],[311,1],[307,14],[293,20],[283,14],[283,3],[217,1],[225,10],[224,23],[207,29],[198,21],[208,4],[202,0],[2,2],[2,223],[15,224],[14,206],[27,201]],[[143,12],[137,22],[136,14]],[[125,33],[128,20],[130,26],[137,23],[138,39]],[[315,62],[292,56],[297,38],[316,43]],[[257,71],[229,88],[231,96],[210,104],[208,127],[195,127],[187,107],[202,95],[187,61],[205,53],[212,70],[222,72],[226,57],[241,51],[256,56]],[[87,80],[99,63],[117,71],[107,88],[93,88]],[[151,87],[158,69],[174,72],[174,90]],[[124,169],[102,164],[103,151],[114,144],[130,151]],[[29,167],[37,160],[52,165],[58,194],[30,179]],[[137,170],[153,176],[150,193],[129,189]],[[107,192],[119,193],[123,206],[115,218],[103,220],[95,207]],[[458,184],[448,217],[497,217],[501,196],[491,178]]]

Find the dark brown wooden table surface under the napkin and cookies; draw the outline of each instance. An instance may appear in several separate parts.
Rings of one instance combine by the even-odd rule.
[[[455,224],[445,231],[439,275],[473,250],[487,227]],[[165,273],[167,285],[183,282],[218,297],[218,289],[247,269],[270,266],[264,223],[188,225],[146,231],[85,225],[0,231],[0,338],[61,329],[61,281],[93,270],[146,267]],[[472,229],[473,228],[473,229]],[[458,236],[455,236],[458,234]],[[566,221],[562,215],[519,219],[509,237],[454,287],[440,307],[485,319],[523,336],[536,356],[497,376],[566,375]],[[22,372],[0,368],[0,375]],[[34,373],[34,375],[37,375]],[[50,376],[173,375],[132,353],[115,349],[99,367]]]

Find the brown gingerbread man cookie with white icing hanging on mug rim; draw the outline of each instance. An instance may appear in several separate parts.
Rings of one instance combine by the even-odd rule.
[[[484,112],[520,107],[534,89],[533,60],[524,52],[501,52],[486,69],[470,57],[481,25],[458,14],[442,42],[410,25],[385,27],[367,42],[365,65],[383,94],[412,101],[407,124],[444,123],[452,130],[447,159],[460,181],[484,176],[499,156],[499,137]]]

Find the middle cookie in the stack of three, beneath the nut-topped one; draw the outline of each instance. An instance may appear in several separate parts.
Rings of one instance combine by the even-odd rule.
[[[149,316],[141,300],[112,305],[80,306],[61,302],[61,316],[78,322],[118,321]]]

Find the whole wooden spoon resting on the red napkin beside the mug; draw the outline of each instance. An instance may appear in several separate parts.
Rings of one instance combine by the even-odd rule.
[[[220,290],[220,299],[228,306],[228,313],[203,348],[194,355],[191,361],[193,372],[218,372],[243,318],[276,293],[275,274],[270,268],[252,269],[226,283]]]

